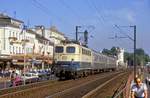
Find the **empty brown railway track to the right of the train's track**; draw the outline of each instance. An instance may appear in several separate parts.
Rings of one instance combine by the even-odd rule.
[[[119,76],[122,76],[126,73],[114,73],[109,75],[104,75],[100,78],[88,81],[86,83],[80,84],[78,86],[66,89],[64,91],[55,93],[53,95],[47,96],[46,98],[96,98],[91,97],[91,95],[95,94],[95,88],[99,87],[98,89],[102,88],[103,86],[107,85],[114,79],[117,79]],[[113,77],[113,78],[112,78]],[[90,92],[91,90],[93,90]],[[90,93],[88,93],[90,92]],[[88,94],[87,94],[88,93]],[[97,98],[105,98],[105,97],[97,97]]]

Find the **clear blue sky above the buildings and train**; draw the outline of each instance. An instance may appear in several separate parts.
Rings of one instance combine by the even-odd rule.
[[[88,30],[89,47],[97,51],[119,46],[132,52],[133,41],[119,37],[133,38],[129,26],[136,25],[137,48],[150,54],[150,0],[0,0],[0,13],[29,27],[56,26],[71,39],[81,26],[79,32]]]

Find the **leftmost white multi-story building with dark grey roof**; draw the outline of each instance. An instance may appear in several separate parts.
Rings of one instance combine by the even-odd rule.
[[[20,20],[0,14],[0,57],[5,65],[10,62],[11,55],[22,53],[22,45],[15,43],[22,39],[22,24]]]

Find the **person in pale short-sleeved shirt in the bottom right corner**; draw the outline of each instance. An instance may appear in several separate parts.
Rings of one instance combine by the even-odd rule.
[[[131,88],[131,98],[148,98],[147,86],[139,77],[135,78],[135,84]]]

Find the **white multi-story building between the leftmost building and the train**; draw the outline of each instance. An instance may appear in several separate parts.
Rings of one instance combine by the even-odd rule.
[[[38,67],[44,68],[45,65],[52,64],[53,60],[53,43],[48,39],[38,34],[41,32],[35,32],[31,29],[24,29],[21,33],[23,36],[22,48],[25,49],[23,54],[12,55],[13,58],[22,58],[22,63],[24,64],[24,56],[26,59],[26,65],[32,65],[30,67],[39,65]],[[15,57],[14,57],[15,56]],[[17,64],[16,62],[15,64]],[[41,66],[42,65],[42,66]]]

